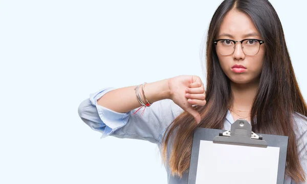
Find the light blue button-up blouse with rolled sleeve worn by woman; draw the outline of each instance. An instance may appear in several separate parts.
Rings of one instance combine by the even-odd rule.
[[[81,119],[93,130],[102,133],[101,137],[114,136],[118,138],[133,138],[148,140],[157,144],[160,148],[162,137],[168,125],[183,112],[177,104],[171,99],[156,101],[150,107],[147,107],[141,116],[137,109],[127,113],[118,113],[102,107],[97,104],[97,100],[105,93],[115,88],[104,88],[90,97],[83,100],[78,107],[78,113]],[[141,111],[141,110],[140,110]],[[300,153],[301,165],[306,172],[307,170],[307,152],[305,151],[307,140],[307,122],[301,118],[302,115],[295,113],[296,137]],[[224,129],[230,130],[234,120],[230,113],[224,122]],[[161,150],[160,150],[161,153]],[[185,173],[182,178],[172,176],[168,166],[166,166],[168,184],[187,183],[188,175]],[[295,183],[289,176],[286,176],[284,184],[301,184]]]

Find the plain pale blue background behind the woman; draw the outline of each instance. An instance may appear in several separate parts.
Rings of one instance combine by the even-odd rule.
[[[204,79],[220,2],[0,1],[0,183],[166,183],[155,145],[100,139],[77,109],[104,87]],[[307,3],[271,2],[307,98]]]

